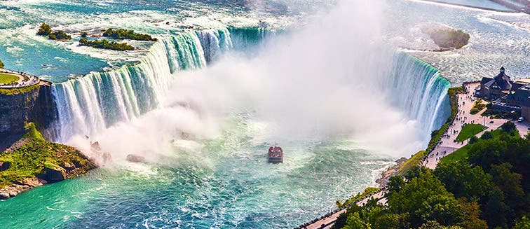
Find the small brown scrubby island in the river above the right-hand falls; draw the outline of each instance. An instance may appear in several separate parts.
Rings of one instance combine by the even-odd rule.
[[[441,50],[453,50],[466,46],[469,42],[469,34],[461,29],[453,29],[443,25],[424,27],[422,32],[428,34],[430,39],[441,48]]]

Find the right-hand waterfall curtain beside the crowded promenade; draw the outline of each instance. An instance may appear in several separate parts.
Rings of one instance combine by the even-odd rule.
[[[435,67],[405,53],[395,55],[391,69],[383,81],[386,95],[409,118],[419,121],[428,140],[430,132],[450,115],[447,89],[451,83]]]

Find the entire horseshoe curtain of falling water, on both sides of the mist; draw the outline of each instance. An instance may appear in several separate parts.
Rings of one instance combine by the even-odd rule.
[[[88,136],[119,121],[130,120],[158,106],[175,72],[198,69],[229,50],[247,50],[273,34],[266,29],[208,29],[162,36],[140,63],[97,72],[53,85],[58,120],[53,140],[65,142],[75,134]],[[434,67],[407,54],[398,54],[393,72],[381,85],[393,104],[421,129],[430,132],[448,116],[449,82]]]

